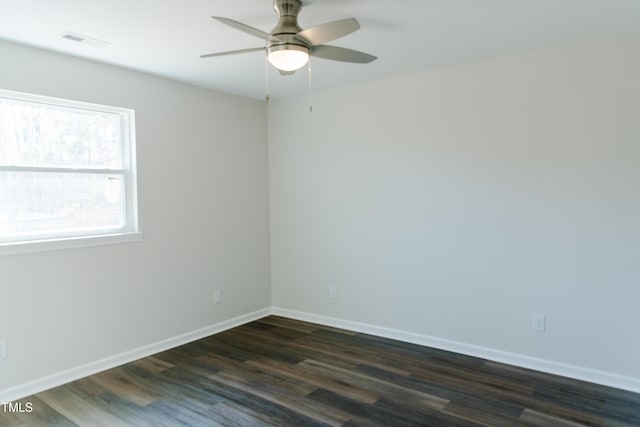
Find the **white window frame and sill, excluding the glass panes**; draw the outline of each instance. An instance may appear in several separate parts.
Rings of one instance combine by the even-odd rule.
[[[7,172],[64,172],[91,173],[124,176],[124,226],[117,229],[99,231],[72,231],[42,235],[35,238],[0,242],[0,255],[43,252],[49,250],[71,249],[106,244],[127,243],[142,240],[138,226],[138,196],[135,146],[135,112],[132,109],[111,107],[87,102],[73,101],[48,96],[33,95],[0,89],[0,98],[48,104],[74,110],[87,110],[116,114],[121,124],[122,167],[120,169],[83,169],[75,167],[24,167],[3,166],[0,171]]]

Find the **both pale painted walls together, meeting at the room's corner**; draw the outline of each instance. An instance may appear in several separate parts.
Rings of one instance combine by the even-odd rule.
[[[272,102],[268,173],[261,102],[0,42],[1,88],[136,110],[145,232],[0,257],[0,396],[272,303],[640,379],[639,48]]]

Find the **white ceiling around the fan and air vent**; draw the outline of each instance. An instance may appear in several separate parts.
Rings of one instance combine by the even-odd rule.
[[[272,0],[0,0],[0,38],[262,99],[261,52],[199,58],[264,44],[212,15],[267,32],[276,23]],[[640,32],[640,0],[303,0],[299,18],[307,28],[348,17],[362,28],[330,44],[379,59],[316,59],[316,90]],[[74,43],[59,37],[65,31],[110,44]],[[306,93],[306,77],[282,77],[272,68],[271,96]]]

